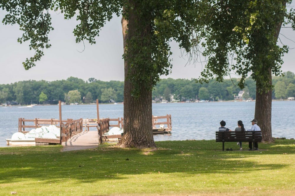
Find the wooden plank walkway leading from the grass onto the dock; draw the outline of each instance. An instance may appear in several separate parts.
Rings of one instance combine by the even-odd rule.
[[[96,148],[98,146],[97,131],[83,131],[74,135],[71,139],[62,143],[62,151],[76,151],[88,148]]]

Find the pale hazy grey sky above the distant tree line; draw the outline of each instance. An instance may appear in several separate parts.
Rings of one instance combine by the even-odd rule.
[[[294,4],[294,3],[293,3]],[[5,12],[0,10],[0,21],[4,18]],[[24,70],[22,62],[31,57],[34,52],[29,50],[29,42],[19,44],[17,38],[22,32],[17,25],[0,24],[0,84],[10,84],[22,80],[46,80],[54,81],[67,79],[70,76],[83,80],[95,78],[102,81],[124,80],[123,39],[121,18],[114,17],[101,29],[96,44],[90,45],[85,42],[85,50],[82,43],[76,44],[73,36],[73,29],[77,24],[76,20],[65,20],[62,14],[52,13],[52,25],[54,30],[50,32],[49,39],[51,48],[44,49],[45,55],[36,66]],[[289,39],[295,40],[295,32],[282,29],[281,34]],[[286,39],[283,35],[280,38],[290,48],[295,48],[295,43]],[[197,78],[202,70],[200,63],[186,65],[187,60],[180,57],[181,50],[175,43],[171,44],[173,55],[172,74],[161,78]],[[294,66],[295,49],[283,57],[283,71],[295,73]],[[185,66],[186,65],[186,66]],[[233,76],[236,77],[236,76]]]

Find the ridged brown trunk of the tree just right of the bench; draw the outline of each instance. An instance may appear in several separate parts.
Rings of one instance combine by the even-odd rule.
[[[257,83],[258,81],[256,81]],[[269,71],[269,83],[272,84],[271,68]],[[257,85],[257,84],[256,84]],[[258,85],[257,85],[258,86]],[[258,126],[261,129],[262,141],[273,141],[271,133],[271,102],[272,90],[262,91],[256,86],[256,102],[255,102],[255,119],[258,120]]]

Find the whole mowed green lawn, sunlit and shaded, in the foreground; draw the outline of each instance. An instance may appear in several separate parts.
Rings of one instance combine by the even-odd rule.
[[[295,141],[161,141],[157,149],[0,148],[0,195],[294,195]]]

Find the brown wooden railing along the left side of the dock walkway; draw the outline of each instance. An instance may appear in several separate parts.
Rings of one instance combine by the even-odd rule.
[[[83,119],[70,120],[61,125],[62,133],[60,138],[60,144],[71,139],[72,136],[77,135],[83,131]]]

